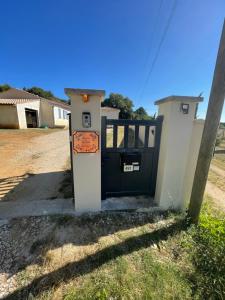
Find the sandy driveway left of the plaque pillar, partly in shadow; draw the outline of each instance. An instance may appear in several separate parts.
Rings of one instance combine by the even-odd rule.
[[[68,131],[0,131],[0,157],[2,201],[60,197],[69,159]]]

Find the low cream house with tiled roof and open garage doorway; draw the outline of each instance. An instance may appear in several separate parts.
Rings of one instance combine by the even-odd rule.
[[[0,93],[0,128],[68,127],[70,105],[10,88]]]

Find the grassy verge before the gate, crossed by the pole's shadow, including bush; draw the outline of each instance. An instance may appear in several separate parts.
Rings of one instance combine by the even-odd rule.
[[[20,273],[26,286],[13,296],[224,299],[224,217],[210,199],[199,225],[189,228],[172,214],[52,216],[53,231],[31,247],[41,264],[36,257],[34,266]]]

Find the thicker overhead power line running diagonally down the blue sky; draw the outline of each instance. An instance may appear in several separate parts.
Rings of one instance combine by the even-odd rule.
[[[175,10],[176,10],[176,6],[177,6],[177,0],[174,0],[172,9],[171,9],[171,12],[170,12],[170,15],[169,15],[169,18],[168,18],[168,20],[167,20],[167,24],[166,24],[166,26],[165,26],[165,29],[164,29],[164,31],[163,31],[161,40],[160,40],[159,45],[158,45],[158,48],[157,48],[155,57],[154,57],[154,59],[153,59],[153,61],[152,61],[152,64],[151,64],[151,66],[150,66],[150,69],[149,69],[149,72],[148,72],[148,74],[147,74],[146,80],[145,80],[145,82],[144,82],[144,86],[143,86],[143,89],[142,89],[141,94],[140,94],[140,99],[143,97],[143,93],[144,93],[145,88],[146,88],[146,86],[147,86],[147,84],[148,84],[148,81],[149,81],[149,79],[150,79],[150,77],[151,77],[152,71],[153,71],[154,66],[155,66],[155,64],[156,64],[156,61],[157,61],[157,59],[158,59],[158,57],[159,57],[159,53],[160,53],[162,44],[163,44],[163,42],[164,42],[164,40],[165,40],[165,38],[166,38],[166,35],[167,35],[167,33],[168,33],[168,30],[169,30],[171,21],[172,21],[172,19],[173,19],[173,16],[174,16],[174,13],[175,13]]]

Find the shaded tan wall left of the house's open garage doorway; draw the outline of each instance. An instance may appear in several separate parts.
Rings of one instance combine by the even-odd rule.
[[[0,128],[19,128],[19,120],[15,105],[0,105]]]

